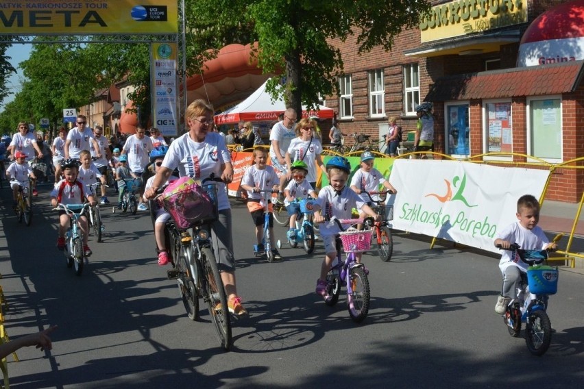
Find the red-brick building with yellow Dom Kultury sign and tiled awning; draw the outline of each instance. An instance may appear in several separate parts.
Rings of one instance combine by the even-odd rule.
[[[397,36],[391,52],[376,48],[358,56],[355,36],[333,42],[341,49],[344,75],[341,96],[327,97],[326,106],[337,112],[343,133],[380,138],[390,116],[404,133],[413,131],[415,105],[432,101],[435,151],[455,158],[501,153],[482,158],[506,164],[583,157],[584,37],[570,34],[584,32],[584,0],[431,3],[433,13],[419,29]],[[544,12],[546,19],[532,24]],[[543,53],[538,59],[529,45],[521,45],[520,53],[522,38],[561,38],[553,35],[561,29],[570,30],[566,38],[581,39],[561,47],[575,54]],[[544,64],[517,67],[529,55]],[[509,152],[514,155],[503,154]],[[583,190],[582,169],[558,168],[546,199],[575,202]]]

